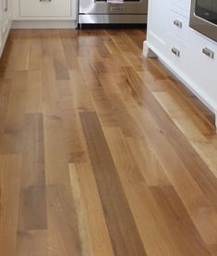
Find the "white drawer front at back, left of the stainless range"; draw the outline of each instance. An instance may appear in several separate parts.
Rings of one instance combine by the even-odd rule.
[[[71,15],[71,0],[19,0],[22,17],[58,17]]]

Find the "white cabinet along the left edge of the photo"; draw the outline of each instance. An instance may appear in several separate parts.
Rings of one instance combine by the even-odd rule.
[[[12,0],[0,0],[0,57],[11,27]]]

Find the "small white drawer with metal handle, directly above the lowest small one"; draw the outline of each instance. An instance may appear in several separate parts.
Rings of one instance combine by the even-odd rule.
[[[182,40],[185,45],[189,44],[189,26],[188,19],[184,16],[170,10],[169,14],[169,32]]]

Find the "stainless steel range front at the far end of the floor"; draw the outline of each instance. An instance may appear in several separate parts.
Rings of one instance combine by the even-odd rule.
[[[113,3],[110,3],[113,2]],[[147,22],[148,0],[78,0],[79,24],[142,24]]]

